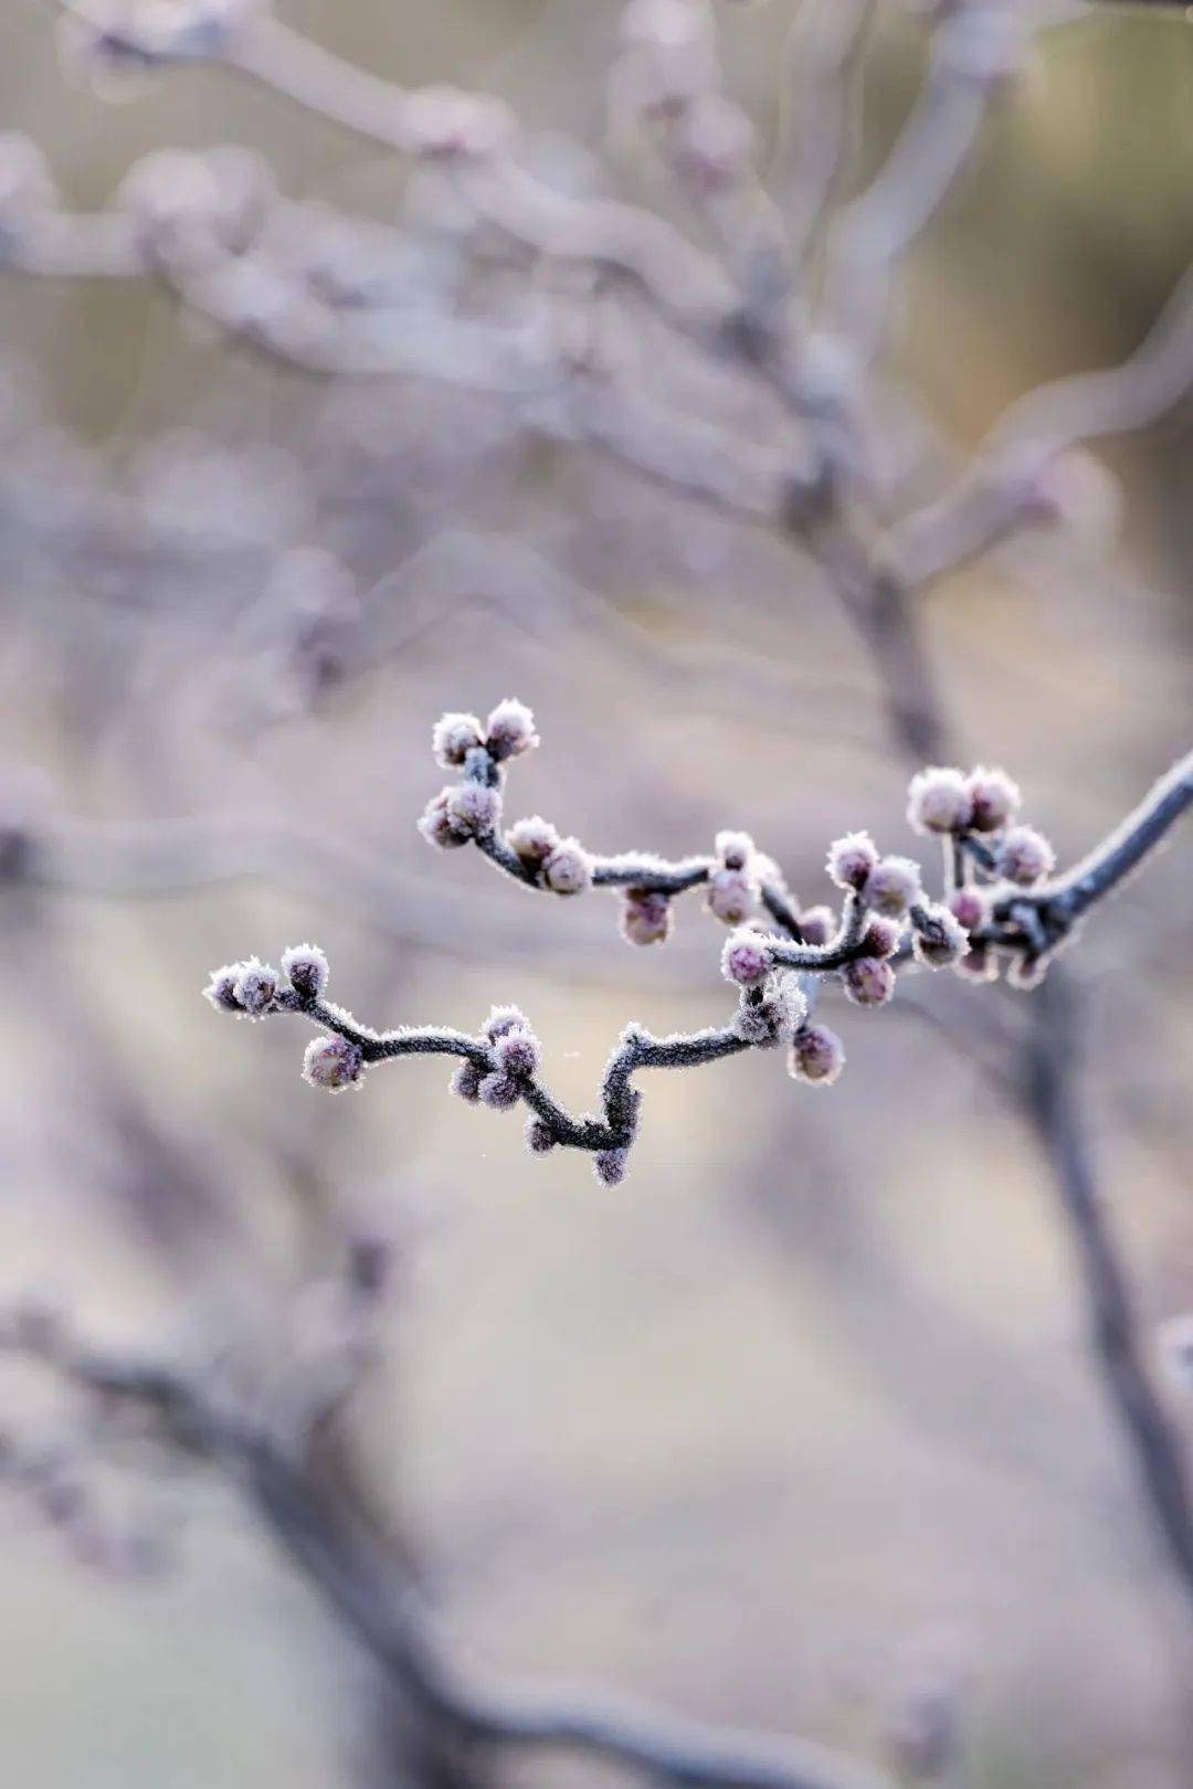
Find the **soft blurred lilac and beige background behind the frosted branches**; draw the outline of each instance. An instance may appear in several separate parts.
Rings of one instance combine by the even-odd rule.
[[[540,166],[597,177],[606,0],[279,11],[406,84],[504,95]],[[721,11],[766,143],[796,9]],[[72,206],[157,145],[234,141],[293,197],[402,216],[411,288],[444,277],[436,191],[368,145],[218,70],[111,104],[64,77],[32,0],[0,34],[0,123],[36,136]],[[921,18],[880,7],[855,188],[923,47]],[[1138,343],[1193,245],[1191,102],[1182,20],[1096,9],[991,111],[900,272],[880,374],[932,463],[1039,379]],[[601,179],[658,197],[624,150]],[[585,1157],[529,1157],[442,1064],[329,1102],[299,1079],[300,1027],[233,1027],[199,998],[213,964],[311,937],[372,1023],[472,1029],[515,1000],[578,1106],[626,1020],[719,1022],[698,902],[667,950],[631,952],[610,898],[535,902],[478,853],[427,852],[429,726],[517,694],[542,750],[513,812],[673,855],[739,825],[825,898],[837,832],[910,846],[912,766],[816,567],[499,401],[311,379],[150,281],[0,277],[0,1290],[118,1342],[218,1340],[268,1378],[351,1240],[386,1236],[381,1358],[334,1465],[488,1666],[882,1757],[939,1655],[964,1700],[950,1780],[1188,1784],[1189,1607],[1007,1095],[1030,996],[907,977],[889,1011],[842,1020],[825,1095],[766,1056],[655,1077],[615,1191]],[[1188,746],[1191,429],[1184,403],[1098,447],[1064,528],[921,606],[959,753],[1014,771],[1062,859]],[[1173,843],[1073,959],[1086,1123],[1148,1351],[1193,1304],[1191,862]],[[1193,1404],[1161,1383],[1193,1446]],[[70,1444],[27,1369],[4,1399],[21,1444]],[[4,1496],[5,1778],[417,1780],[376,1682],[234,1496],[182,1467],[88,1485],[113,1533],[148,1524],[163,1569],[88,1564]]]

